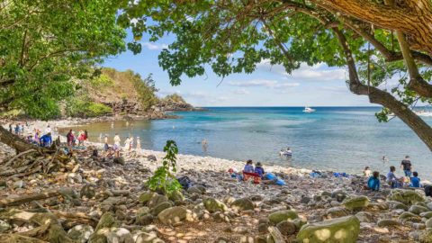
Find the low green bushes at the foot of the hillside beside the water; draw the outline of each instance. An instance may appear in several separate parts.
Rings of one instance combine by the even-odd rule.
[[[112,113],[112,108],[103,103],[72,100],[67,103],[66,112],[73,117],[97,117]]]

